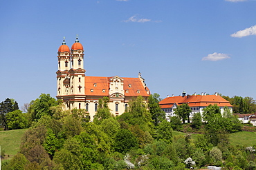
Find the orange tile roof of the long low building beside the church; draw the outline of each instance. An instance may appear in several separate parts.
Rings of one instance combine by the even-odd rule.
[[[206,96],[174,96],[161,100],[159,105],[161,108],[170,108],[172,105],[176,103],[177,105],[181,105],[183,103],[188,103],[190,107],[207,107],[208,105],[217,104],[219,107],[232,107],[228,100],[225,100],[221,96],[216,95],[206,95]]]

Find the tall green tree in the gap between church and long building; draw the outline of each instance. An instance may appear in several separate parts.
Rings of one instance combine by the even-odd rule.
[[[159,105],[159,97],[159,94],[150,94],[147,104],[147,106],[149,107],[149,112],[152,115],[154,125],[158,125],[158,123],[165,119],[165,111],[163,111]]]

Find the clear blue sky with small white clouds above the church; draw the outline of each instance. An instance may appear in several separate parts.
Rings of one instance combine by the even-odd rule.
[[[55,96],[57,50],[79,34],[87,76],[137,77],[161,98],[256,99],[256,1],[0,1],[0,101]]]

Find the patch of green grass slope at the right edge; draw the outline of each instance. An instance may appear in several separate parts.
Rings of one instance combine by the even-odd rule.
[[[230,144],[252,146],[256,145],[256,132],[255,131],[239,131],[230,134]]]

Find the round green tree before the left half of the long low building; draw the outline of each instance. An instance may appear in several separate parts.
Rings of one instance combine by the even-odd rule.
[[[174,109],[174,111],[175,114],[182,119],[183,124],[185,123],[185,120],[188,120],[188,123],[190,123],[190,113],[192,110],[190,109],[190,106],[187,103],[178,105],[177,108]]]

